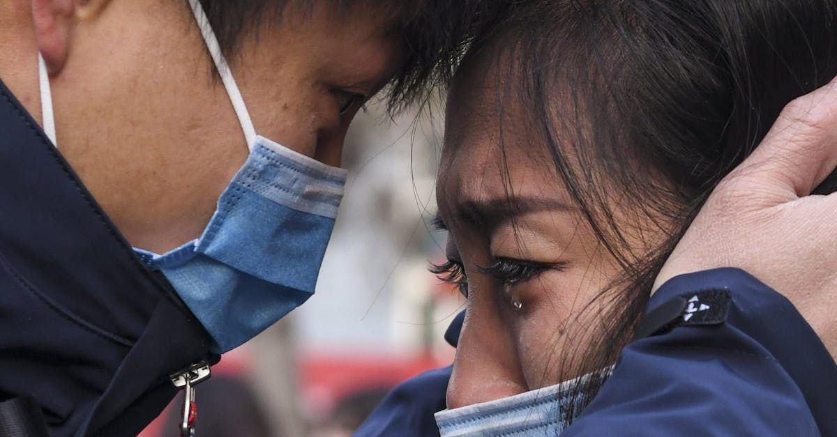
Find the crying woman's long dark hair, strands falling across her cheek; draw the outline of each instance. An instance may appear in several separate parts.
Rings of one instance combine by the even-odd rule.
[[[783,106],[837,75],[835,8],[837,0],[519,2],[468,55],[495,59],[506,79],[497,83],[507,85],[498,98],[516,102],[515,121],[548,148],[560,183],[624,272],[584,310],[606,308],[595,317],[601,325],[567,330],[576,337],[563,344],[577,350],[562,352],[560,368],[616,361],[711,190]],[[637,250],[638,238],[653,244]],[[601,383],[578,387],[563,419]]]

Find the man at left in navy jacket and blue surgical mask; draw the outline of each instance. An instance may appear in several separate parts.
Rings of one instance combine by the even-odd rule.
[[[489,8],[3,2],[0,434],[133,435],[178,388],[190,434],[218,353],[313,292],[352,116]]]

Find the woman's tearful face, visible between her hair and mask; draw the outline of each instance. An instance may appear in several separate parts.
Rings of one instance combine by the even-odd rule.
[[[468,281],[450,409],[592,370],[567,356],[601,337],[594,297],[619,273],[547,147],[497,91],[505,85],[484,54],[460,70],[449,97],[436,194],[449,260]]]

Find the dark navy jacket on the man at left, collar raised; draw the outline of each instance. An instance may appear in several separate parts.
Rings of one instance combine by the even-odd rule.
[[[208,346],[0,82],[0,402],[32,399],[51,435],[136,435]]]

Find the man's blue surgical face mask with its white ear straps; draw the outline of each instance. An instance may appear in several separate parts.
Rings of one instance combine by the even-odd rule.
[[[189,3],[239,117],[249,157],[199,239],[162,255],[136,253],[171,282],[213,338],[213,352],[227,352],[314,293],[347,172],[256,135],[203,8],[198,0]],[[42,95],[49,97],[40,64]],[[55,142],[52,105],[49,98],[42,101],[44,131]]]

